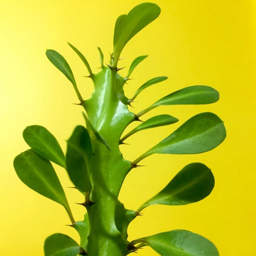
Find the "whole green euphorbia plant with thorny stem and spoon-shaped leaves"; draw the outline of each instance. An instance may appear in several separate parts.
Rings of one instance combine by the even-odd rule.
[[[56,51],[47,50],[46,56],[70,80],[80,105],[84,108],[84,126],[76,126],[67,140],[66,155],[56,138],[44,127],[28,126],[23,137],[31,149],[14,159],[14,168],[20,180],[36,192],[46,196],[66,209],[73,228],[80,235],[80,245],[64,234],[53,234],[44,243],[45,256],[125,256],[150,246],[162,256],[217,256],[218,250],[206,238],[186,230],[172,230],[153,236],[128,240],[127,228],[145,207],[152,204],[184,205],[198,202],[214,188],[214,176],[206,165],[191,163],[185,166],[156,196],[142,204],[137,211],[127,210],[118,200],[124,178],[138,163],[152,154],[199,154],[216,148],[226,137],[222,120],[213,113],[193,116],[170,136],[146,151],[134,161],[124,160],[120,144],[135,132],[173,124],[178,119],[170,115],[152,117],[122,136],[132,122],[141,121],[148,111],[163,105],[211,104],[219,93],[208,86],[190,86],[158,100],[145,110],[134,114],[129,105],[148,86],[166,80],[157,77],[143,84],[129,99],[124,95],[124,84],[134,68],[147,56],[136,58],[124,78],[118,60],[126,43],[160,14],[156,4],[144,3],[116,20],[114,51],[110,63],[104,64],[100,48],[101,70],[94,74],[83,54],[72,44],[71,48],[84,62],[89,78],[94,83],[90,99],[84,100],[66,60]],[[51,164],[62,166],[79,192],[84,195],[86,208],[84,220],[72,216],[64,190]]]

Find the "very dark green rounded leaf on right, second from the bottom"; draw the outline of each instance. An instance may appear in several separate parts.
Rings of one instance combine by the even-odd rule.
[[[137,212],[153,204],[184,205],[198,202],[210,195],[214,188],[214,176],[204,164],[192,163],[185,166],[169,184]]]

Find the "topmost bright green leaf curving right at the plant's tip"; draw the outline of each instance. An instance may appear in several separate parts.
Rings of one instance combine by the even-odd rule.
[[[159,16],[160,12],[161,9],[158,5],[152,3],[142,3],[135,6],[128,13],[126,18],[122,18],[123,21],[119,22],[119,29],[117,30],[118,33],[115,31],[116,36],[114,36],[115,64],[117,64],[122,49],[127,44],[127,42],[140,30],[142,30],[142,28],[146,27],[153,20],[155,20]],[[119,36],[117,36],[118,34]]]

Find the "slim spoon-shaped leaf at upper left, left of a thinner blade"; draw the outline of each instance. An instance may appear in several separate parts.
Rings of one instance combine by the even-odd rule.
[[[64,57],[60,55],[58,52],[56,52],[55,50],[46,50],[46,56],[48,60],[50,60],[50,62],[52,62],[52,64],[54,64],[54,66],[58,68],[58,70],[60,70],[60,72],[62,72],[66,76],[66,78],[68,78],[68,80],[70,80],[70,82],[73,84],[73,87],[76,91],[76,95],[78,96],[78,99],[81,102],[83,102],[84,100],[80,92],[78,91],[76,80],[74,78],[72,70],[68,65],[68,62],[64,59]]]

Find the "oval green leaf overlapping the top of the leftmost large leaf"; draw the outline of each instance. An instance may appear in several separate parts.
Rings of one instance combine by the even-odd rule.
[[[66,168],[66,159],[60,144],[44,126],[27,126],[22,135],[28,146],[36,153]]]

